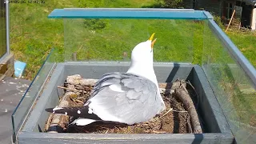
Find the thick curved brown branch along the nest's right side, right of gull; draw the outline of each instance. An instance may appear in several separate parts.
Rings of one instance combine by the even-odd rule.
[[[192,99],[190,98],[190,95],[186,92],[186,90],[184,90],[184,82],[180,82],[180,81],[178,81],[178,82],[181,84],[181,86],[175,89],[175,94],[182,101],[186,110],[190,114],[194,134],[202,134],[202,128],[200,126],[200,122],[198,119],[198,113],[195,110],[194,103],[193,103]]]

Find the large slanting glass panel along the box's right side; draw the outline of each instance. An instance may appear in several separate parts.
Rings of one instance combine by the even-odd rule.
[[[206,22],[202,67],[238,143],[254,143],[256,90]]]

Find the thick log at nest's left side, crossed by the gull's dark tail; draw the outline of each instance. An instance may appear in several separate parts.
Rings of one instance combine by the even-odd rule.
[[[66,92],[59,102],[58,107],[69,107],[70,106],[70,95],[75,94],[74,92]],[[50,127],[60,126],[62,130],[66,129],[66,124],[69,122],[69,116],[65,114],[54,114],[52,121],[50,122]],[[49,133],[58,133],[57,130],[49,131]]]

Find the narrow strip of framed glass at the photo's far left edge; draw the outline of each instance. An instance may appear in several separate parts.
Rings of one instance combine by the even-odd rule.
[[[6,52],[6,4],[0,2],[0,58]]]

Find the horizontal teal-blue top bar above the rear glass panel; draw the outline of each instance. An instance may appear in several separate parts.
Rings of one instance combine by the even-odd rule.
[[[129,12],[129,13],[127,13]],[[201,10],[135,8],[68,8],[55,9],[48,18],[133,18],[133,19],[207,19]]]

